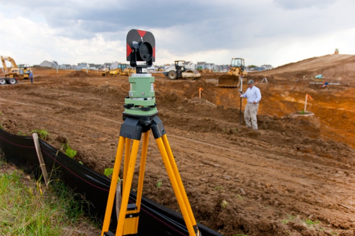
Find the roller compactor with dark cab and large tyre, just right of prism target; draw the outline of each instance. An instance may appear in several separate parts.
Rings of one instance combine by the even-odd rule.
[[[176,80],[176,78],[186,78],[187,80],[194,80],[201,77],[194,68],[186,65],[185,61],[175,61],[174,65],[169,66],[164,70],[163,74],[169,78],[169,80]]]

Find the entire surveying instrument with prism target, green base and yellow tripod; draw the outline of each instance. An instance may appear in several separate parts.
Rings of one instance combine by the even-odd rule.
[[[158,117],[157,104],[155,103],[154,81],[152,74],[147,73],[148,67],[155,62],[155,38],[151,32],[132,29],[127,34],[127,61],[136,68],[136,74],[129,77],[129,96],[125,98],[123,124],[121,125],[120,138],[117,147],[116,160],[112,174],[109,199],[103,220],[101,236],[138,235],[138,219],[143,191],[144,173],[146,167],[149,131],[158,144],[171,186],[174,190],[181,213],[184,217],[190,236],[202,236],[200,233],[186,191],[181,180],[179,170],[172,155],[162,121]],[[137,65],[138,61],[146,64]],[[134,166],[136,163],[139,141],[143,134],[141,149],[140,169],[137,185],[136,202],[128,204],[131,191]],[[132,141],[133,140],[133,141]],[[132,148],[131,148],[132,141]],[[122,201],[118,214],[116,234],[109,231],[118,175],[124,154]],[[117,196],[116,196],[117,198]],[[116,205],[119,204],[116,201]],[[143,233],[144,234],[144,233]]]

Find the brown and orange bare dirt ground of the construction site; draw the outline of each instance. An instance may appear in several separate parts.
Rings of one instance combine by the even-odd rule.
[[[216,87],[222,73],[195,81],[153,74],[159,117],[196,221],[223,235],[354,235],[355,56],[307,60],[248,74],[262,94],[259,130],[247,129],[243,118],[239,127],[239,92]],[[58,149],[68,142],[78,162],[101,174],[112,168],[128,76],[33,73],[33,84],[0,86],[3,129],[46,130],[47,142]],[[310,84],[323,82],[314,80],[319,73],[340,85]],[[265,75],[268,83],[261,83]],[[314,115],[292,115],[303,110],[306,94]],[[143,194],[180,211],[153,135]]]

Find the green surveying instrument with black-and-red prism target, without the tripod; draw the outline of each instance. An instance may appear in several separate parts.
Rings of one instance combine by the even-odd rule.
[[[152,120],[158,110],[155,103],[154,81],[148,67],[155,62],[155,38],[151,32],[131,29],[127,34],[127,61],[136,67],[136,73],[128,78],[130,90],[123,107],[123,120],[126,116],[142,116],[143,120]],[[138,61],[146,62],[138,65]]]

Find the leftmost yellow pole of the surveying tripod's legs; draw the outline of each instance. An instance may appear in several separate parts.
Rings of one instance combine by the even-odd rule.
[[[117,180],[118,180],[118,174],[120,172],[125,140],[126,140],[125,137],[120,136],[120,139],[118,141],[118,147],[117,147],[117,152],[116,152],[116,160],[115,160],[115,165],[114,165],[114,172],[112,174],[112,180],[111,180],[110,192],[109,192],[109,199],[108,199],[107,207],[106,207],[106,211],[105,211],[105,218],[103,220],[101,236],[103,236],[104,232],[109,231],[110,221],[111,221],[111,214],[112,214],[112,207],[114,206],[114,199],[115,199],[115,193],[116,193],[116,187],[117,187]]]

